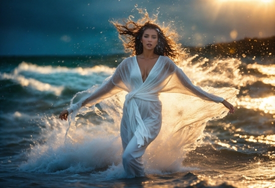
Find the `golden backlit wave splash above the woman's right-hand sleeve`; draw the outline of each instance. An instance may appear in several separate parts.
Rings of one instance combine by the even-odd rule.
[[[195,62],[191,56],[179,63],[179,67],[194,84],[213,85],[225,83],[228,86],[243,87],[257,81],[254,75],[243,74],[239,69],[242,62],[237,58],[211,59],[202,58]]]

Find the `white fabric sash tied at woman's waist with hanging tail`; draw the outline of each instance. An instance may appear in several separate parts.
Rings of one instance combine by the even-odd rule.
[[[157,102],[158,94],[149,94],[142,92],[129,92],[125,96],[125,104],[126,109],[129,116],[131,131],[137,138],[137,147],[141,147],[144,145],[144,141],[148,141],[148,137],[150,136],[150,132],[148,128],[144,125],[142,118],[140,116],[138,106],[133,98],[138,98],[141,100],[153,101]]]

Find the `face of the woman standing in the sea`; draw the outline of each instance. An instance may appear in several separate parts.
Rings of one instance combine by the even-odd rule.
[[[144,30],[141,38],[143,50],[153,50],[157,44],[157,31],[153,28],[147,28]]]

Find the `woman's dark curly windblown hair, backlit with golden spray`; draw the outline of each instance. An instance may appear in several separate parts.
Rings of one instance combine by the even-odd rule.
[[[153,18],[150,18],[146,10],[143,11],[143,9],[138,8],[137,10],[143,14],[143,17],[136,22],[131,19],[133,16],[122,19],[122,23],[110,21],[119,33],[125,52],[131,52],[132,55],[141,54],[143,51],[143,45],[140,41],[142,34],[144,30],[150,28],[157,31],[158,41],[153,51],[155,54],[168,56],[174,62],[183,57],[185,53],[181,44],[177,43],[177,33],[168,26],[159,26],[156,23],[157,15],[153,14]]]

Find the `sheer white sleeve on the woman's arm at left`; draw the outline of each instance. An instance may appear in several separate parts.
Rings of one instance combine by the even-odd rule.
[[[123,84],[121,77],[123,76],[123,68],[125,67],[124,60],[117,66],[114,73],[107,77],[101,85],[94,85],[91,88],[77,92],[71,99],[70,107],[67,108],[69,114],[73,111],[84,107],[92,106],[99,103],[101,100],[110,97],[127,87]],[[76,103],[73,100],[78,98]],[[79,99],[80,98],[80,99]]]

